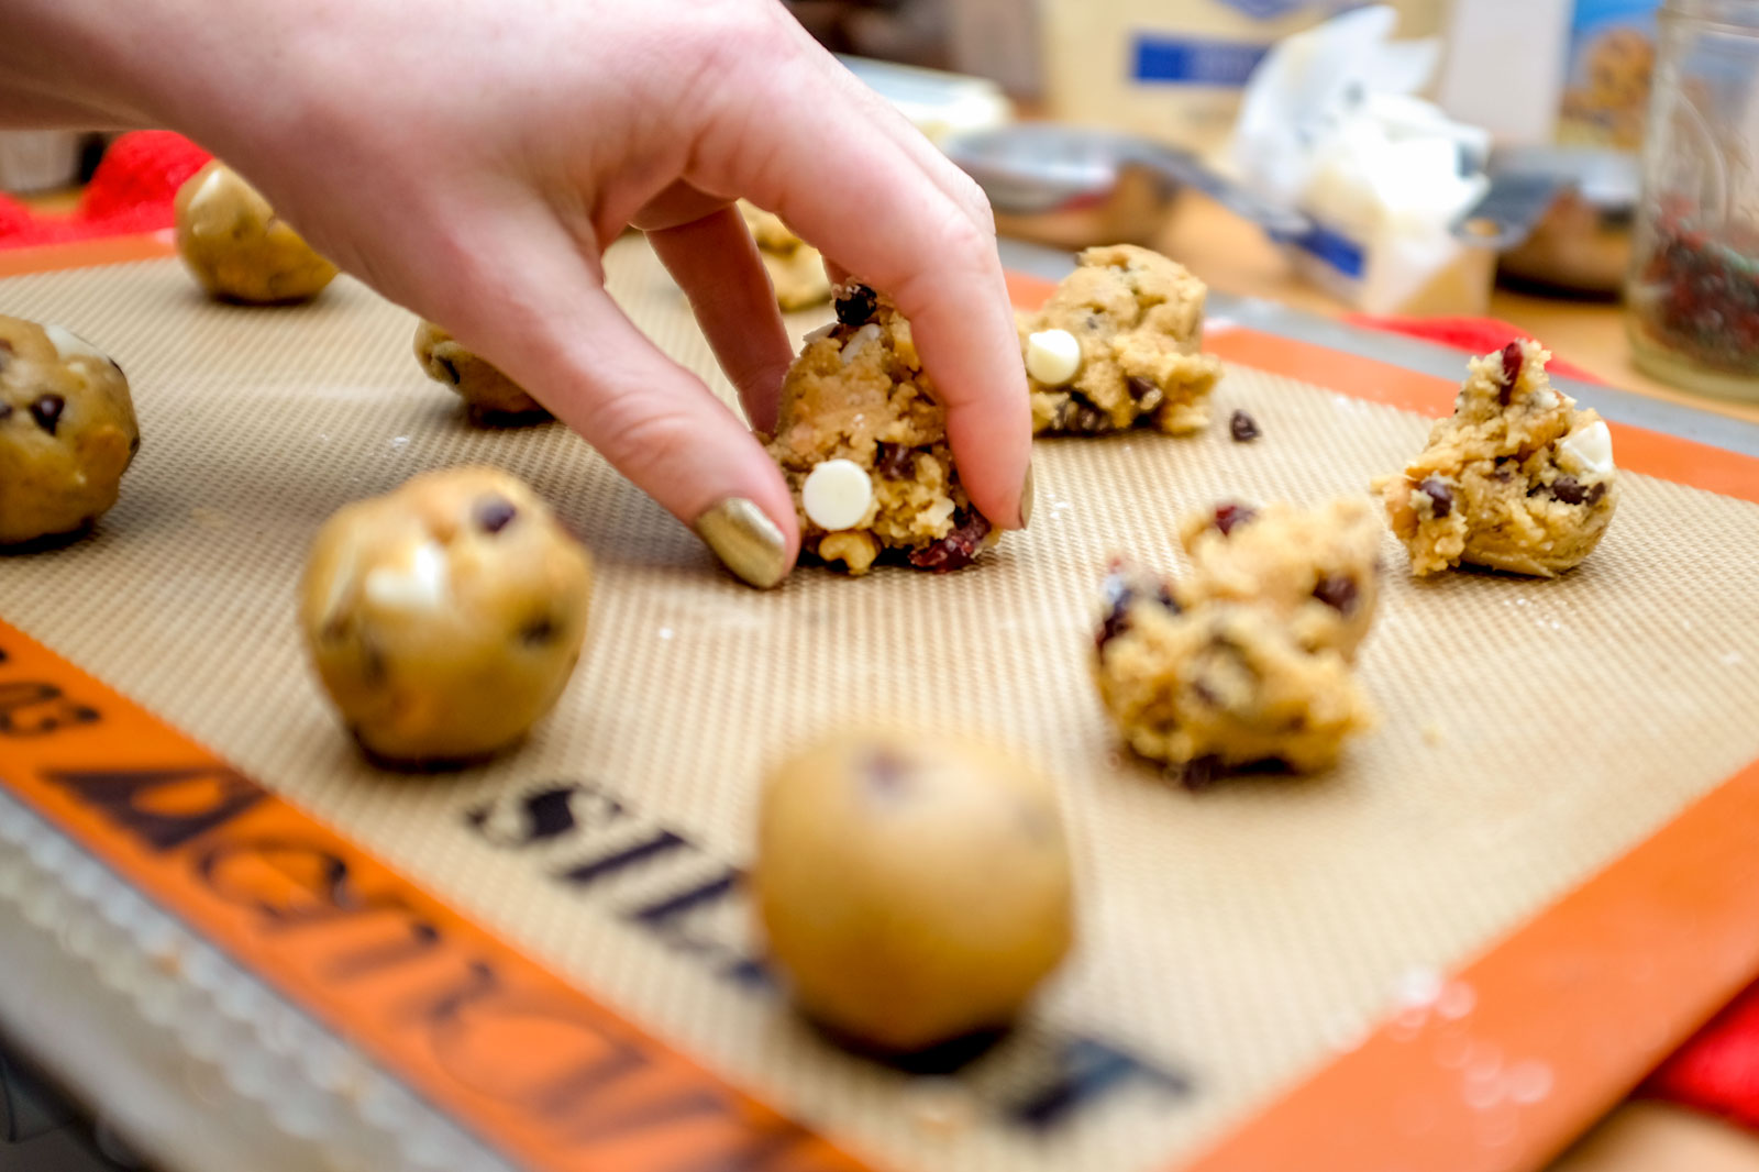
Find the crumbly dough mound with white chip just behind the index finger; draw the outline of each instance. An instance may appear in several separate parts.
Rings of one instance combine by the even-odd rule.
[[[1208,287],[1138,248],[1089,248],[1038,313],[1018,315],[1033,431],[1098,435],[1208,422],[1221,363],[1200,352]]]

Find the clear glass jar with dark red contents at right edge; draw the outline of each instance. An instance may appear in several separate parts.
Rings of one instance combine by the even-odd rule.
[[[1625,322],[1639,368],[1759,401],[1759,0],[1668,0]]]

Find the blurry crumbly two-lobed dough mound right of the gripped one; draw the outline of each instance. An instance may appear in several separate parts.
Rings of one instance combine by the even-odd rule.
[[[1367,503],[1221,505],[1180,531],[1193,570],[1115,568],[1094,681],[1124,739],[1203,785],[1224,769],[1325,769],[1374,723],[1351,670],[1379,598]]]

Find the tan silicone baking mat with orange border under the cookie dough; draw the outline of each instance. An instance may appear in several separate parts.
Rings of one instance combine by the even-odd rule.
[[[607,269],[726,394],[646,246]],[[348,280],[216,306],[160,257],[12,276],[0,311],[113,352],[142,428],[93,537],[0,560],[0,781],[526,1165],[1534,1167],[1759,968],[1759,461],[1615,426],[1618,517],[1553,582],[1420,584],[1388,537],[1381,727],[1189,794],[1092,695],[1106,561],[1177,565],[1217,498],[1365,491],[1449,385],[1217,331],[1256,443],[1043,442],[1033,528],[978,568],[755,593],[563,428],[470,428]],[[380,773],[299,646],[306,546],[471,461],[593,547],[589,644],[519,751]],[[952,1075],[818,1038],[748,924],[763,764],[874,716],[1045,762],[1078,838],[1073,963]]]

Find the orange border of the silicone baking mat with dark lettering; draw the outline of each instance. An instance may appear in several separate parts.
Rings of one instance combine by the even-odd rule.
[[[28,269],[0,253],[0,275],[97,255],[165,248],[35,250]],[[1010,289],[1031,304],[1048,283]],[[1256,331],[1215,329],[1208,348],[1423,414],[1453,401],[1444,378]],[[1759,461],[1613,431],[1625,468],[1759,502]],[[862,1167],[4,621],[0,651],[16,792],[515,1158],[566,1172]],[[1548,1072],[1493,1135],[1462,1095],[1469,1066],[1446,1058],[1458,1024],[1395,1017],[1186,1172],[1541,1165],[1759,971],[1755,811],[1759,762],[1456,973],[1474,993],[1472,1054]]]

